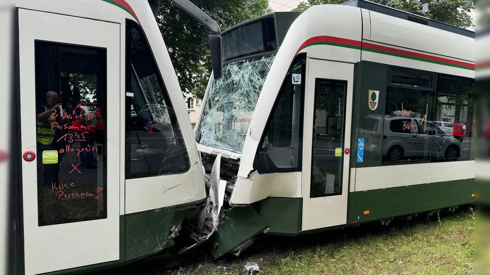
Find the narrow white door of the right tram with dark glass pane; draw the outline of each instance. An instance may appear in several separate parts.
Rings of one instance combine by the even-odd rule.
[[[301,230],[347,220],[354,65],[308,60]]]

